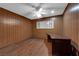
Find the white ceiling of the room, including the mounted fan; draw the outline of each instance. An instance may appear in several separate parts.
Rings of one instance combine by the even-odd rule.
[[[0,7],[29,19],[62,15],[67,3],[0,3]]]

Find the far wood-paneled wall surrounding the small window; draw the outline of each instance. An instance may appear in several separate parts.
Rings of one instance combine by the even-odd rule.
[[[62,33],[63,33],[63,28],[62,28],[63,27],[63,19],[62,19],[62,16],[57,16],[57,17],[54,17],[54,18],[55,18],[54,29],[36,29],[36,22],[38,20],[37,21],[36,20],[32,21],[33,37],[47,39],[47,35],[46,35],[47,33],[62,35]],[[47,20],[47,18],[43,19],[43,20]],[[49,18],[48,18],[48,20],[49,20]]]

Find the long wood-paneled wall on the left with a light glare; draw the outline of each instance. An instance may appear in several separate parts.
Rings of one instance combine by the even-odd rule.
[[[0,8],[0,48],[32,36],[30,20]]]

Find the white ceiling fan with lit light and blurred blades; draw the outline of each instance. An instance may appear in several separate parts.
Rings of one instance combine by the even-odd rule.
[[[36,4],[36,5],[35,5]],[[42,8],[43,3],[28,3],[27,5],[35,9],[34,16],[42,17],[43,14],[46,14],[46,10]]]

